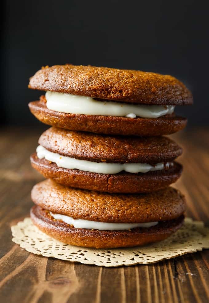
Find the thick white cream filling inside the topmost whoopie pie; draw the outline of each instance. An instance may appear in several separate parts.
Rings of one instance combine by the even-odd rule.
[[[144,105],[99,101],[91,97],[49,91],[46,92],[45,98],[48,109],[62,113],[83,115],[158,118],[173,113],[175,108],[174,105]]]

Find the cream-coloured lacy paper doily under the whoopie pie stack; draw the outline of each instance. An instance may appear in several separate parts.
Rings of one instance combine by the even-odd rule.
[[[106,267],[154,263],[209,248],[209,228],[204,227],[203,222],[190,218],[186,218],[183,226],[164,241],[108,250],[72,246],[55,240],[34,226],[30,218],[18,222],[11,230],[14,236],[12,241],[28,252]]]

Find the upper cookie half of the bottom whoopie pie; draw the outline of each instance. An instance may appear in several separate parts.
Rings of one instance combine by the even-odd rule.
[[[33,187],[31,198],[54,213],[99,222],[164,221],[175,219],[186,210],[184,196],[172,187],[149,194],[108,194],[75,189],[47,179]]]

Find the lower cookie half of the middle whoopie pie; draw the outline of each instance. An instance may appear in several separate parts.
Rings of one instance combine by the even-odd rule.
[[[56,163],[31,155],[32,166],[45,178],[53,178],[56,182],[89,190],[112,193],[145,193],[160,190],[174,183],[180,177],[182,166],[174,162],[169,169],[148,173],[97,174],[88,171],[58,167]]]

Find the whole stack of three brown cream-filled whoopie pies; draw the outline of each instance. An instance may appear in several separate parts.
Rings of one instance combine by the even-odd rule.
[[[184,196],[169,187],[181,175],[182,149],[167,135],[187,120],[175,105],[191,92],[168,75],[135,70],[46,66],[29,88],[46,91],[29,108],[51,125],[32,166],[33,223],[65,243],[116,248],[167,238],[184,219]]]

